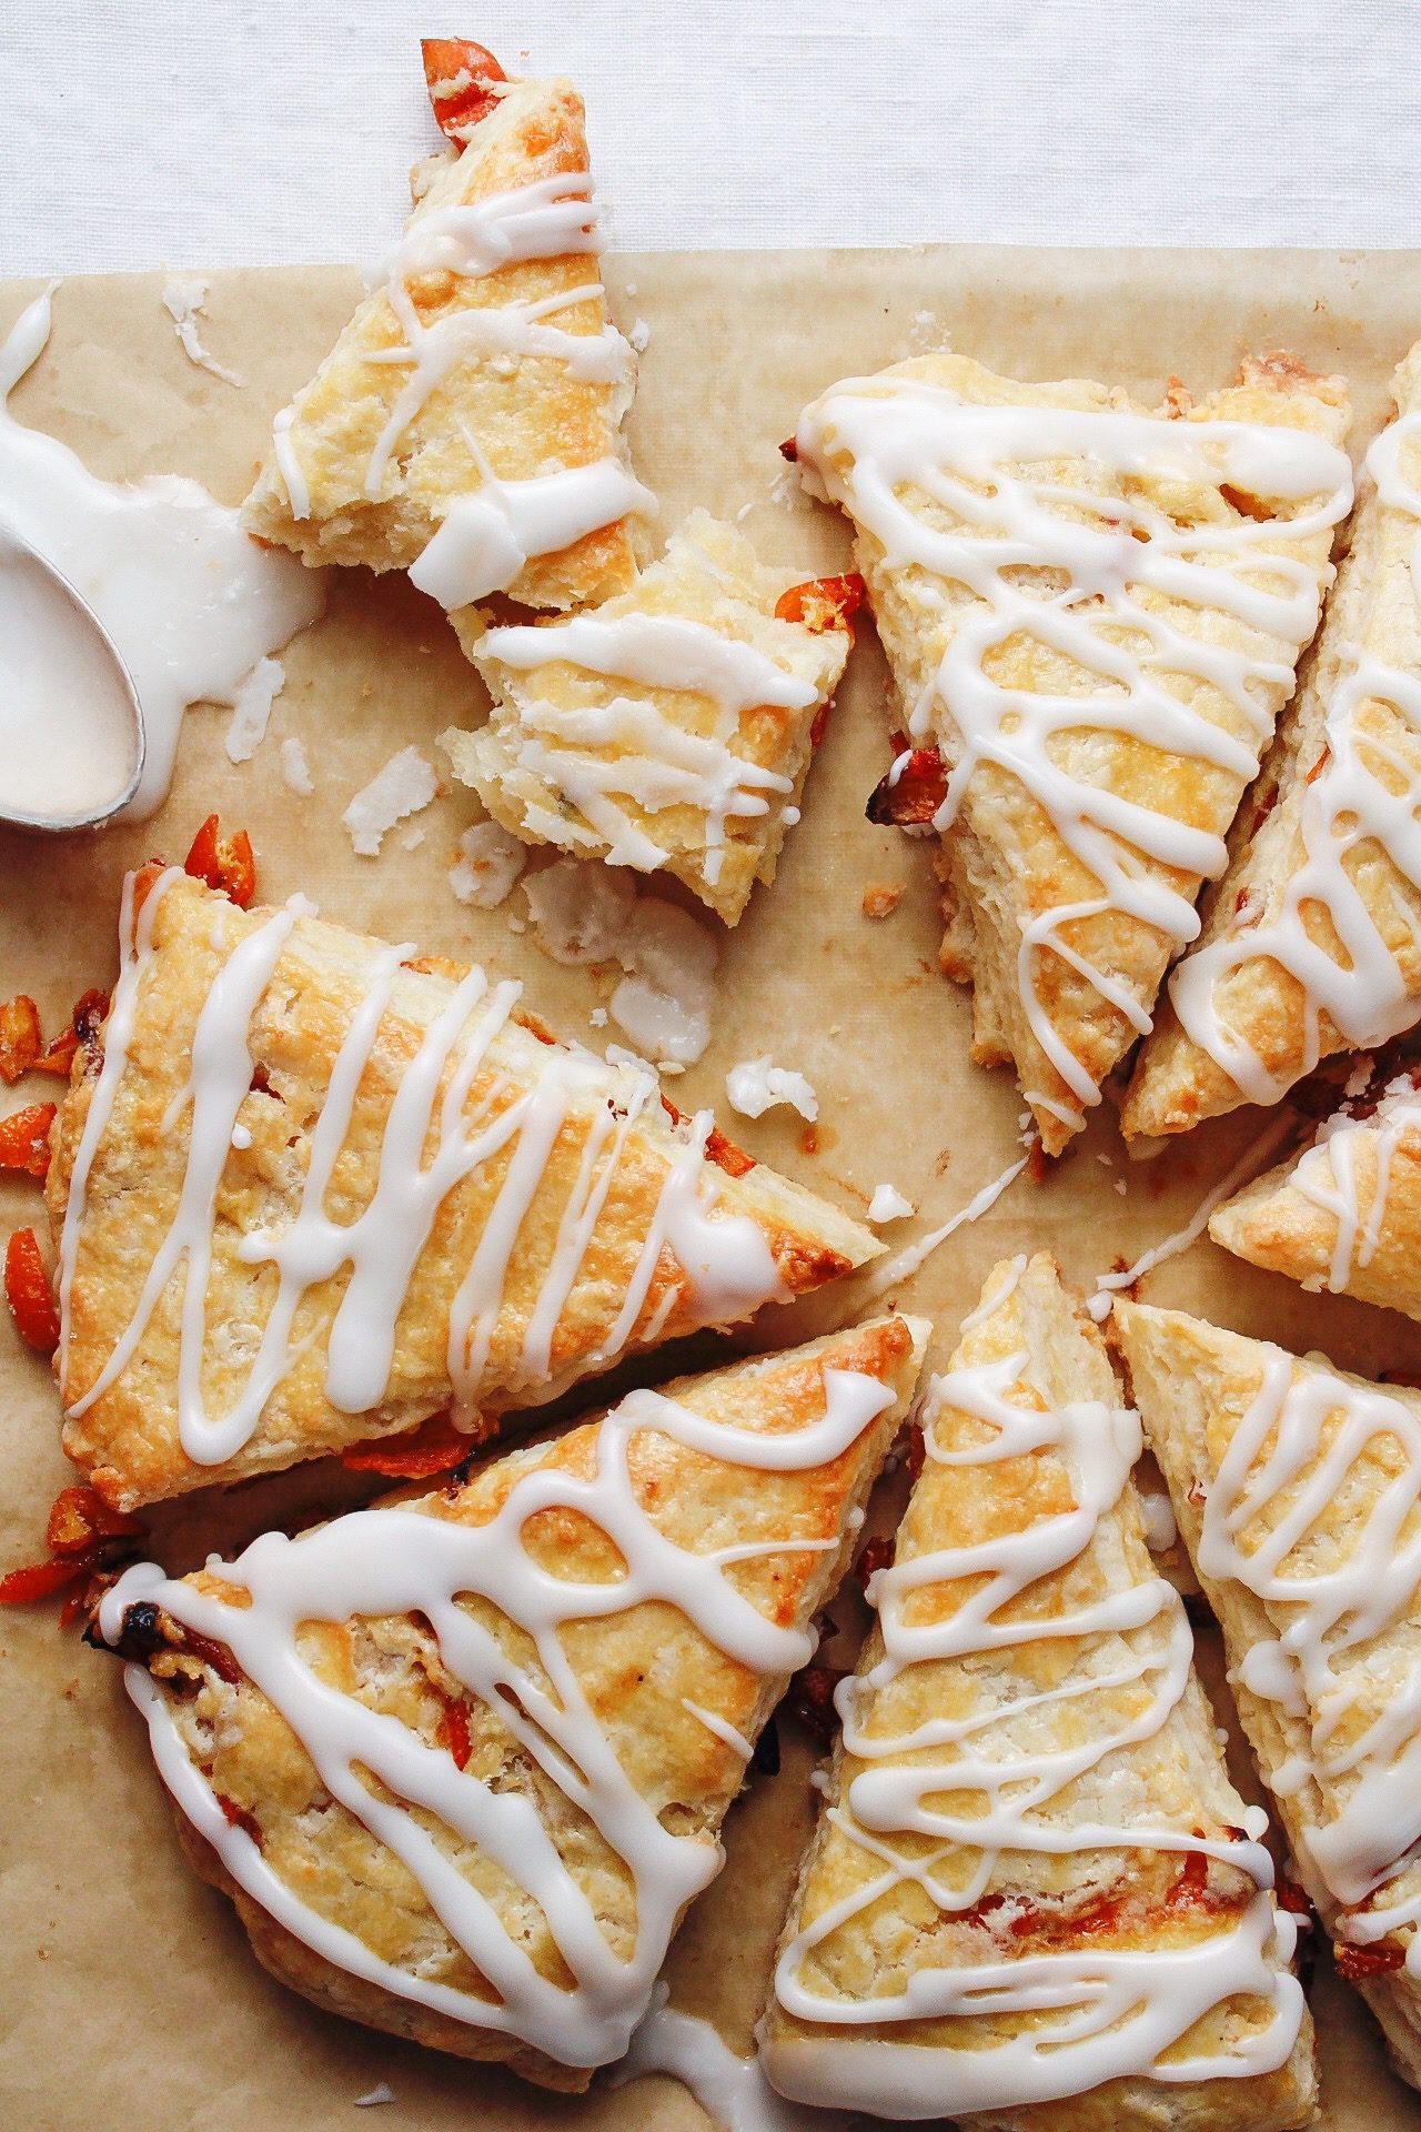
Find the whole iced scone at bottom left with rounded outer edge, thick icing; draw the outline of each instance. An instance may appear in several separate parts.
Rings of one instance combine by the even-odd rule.
[[[420,1501],[141,1565],[132,1659],[194,1863],[337,2013],[582,2089],[620,2057],[814,1650],[927,1324],[631,1392]],[[249,1603],[247,1603],[249,1601]]]

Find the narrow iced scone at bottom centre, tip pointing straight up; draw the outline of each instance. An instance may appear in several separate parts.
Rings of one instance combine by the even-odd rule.
[[[1312,2119],[1293,1923],[1144,1544],[1138,1450],[1050,1258],[997,1266],[839,1691],[763,2023],[784,2094],[1001,2132]]]

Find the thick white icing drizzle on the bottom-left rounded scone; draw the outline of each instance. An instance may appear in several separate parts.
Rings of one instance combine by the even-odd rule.
[[[714,1840],[663,1827],[656,1802],[631,1782],[614,1738],[588,1703],[560,1631],[658,1601],[677,1608],[718,1652],[754,1674],[788,1676],[803,1665],[814,1633],[769,1620],[724,1571],[805,1548],[833,1552],[837,1539],[786,1537],[690,1552],[648,1516],[628,1452],[637,1433],[656,1431],[746,1475],[741,1486],[752,1486],[754,1473],[807,1473],[842,1456],[893,1405],[893,1392],[867,1373],[824,1367],[822,1379],[822,1418],[788,1433],[735,1428],[656,1392],[631,1392],[597,1428],[590,1475],[535,1467],[486,1524],[396,1507],[356,1512],[298,1539],[264,1533],[234,1563],[207,1565],[222,1580],[222,1595],[173,1582],[153,1563],[130,1569],[104,1595],[102,1633],[117,1640],[126,1608],[149,1601],[226,1644],[292,1727],[326,1791],[413,1874],[445,1932],[499,1991],[499,2004],[383,1961],[309,1908],[266,1866],[251,1836],[228,1825],[160,1689],[147,1671],[130,1667],[128,1691],[147,1716],[164,1784],[236,1885],[315,1953],[405,2000],[520,2036],[562,2064],[599,2066],[618,2057],[650,2002],[682,1906],[716,1876],[722,1853]],[[624,1573],[597,1582],[550,1576],[537,1565],[524,1548],[524,1529],[550,1509],[592,1520],[618,1548]],[[501,1642],[460,1605],[460,1595],[494,1605],[513,1635]],[[499,1714],[518,1748],[626,1863],[637,1938],[624,1959],[603,1936],[594,1902],[524,1791],[484,1784],[445,1748],[424,1746],[403,1725],[320,1680],[300,1654],[303,1622],[409,1612],[428,1620],[443,1665]],[[496,1908],[409,1812],[413,1806],[477,1844],[537,1902],[573,1974],[571,1989],[539,1974]]]

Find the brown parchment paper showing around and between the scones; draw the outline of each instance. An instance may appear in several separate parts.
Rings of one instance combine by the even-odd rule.
[[[633,446],[663,499],[660,531],[697,503],[724,516],[750,505],[744,524],[763,554],[805,574],[842,567],[848,542],[829,512],[771,497],[778,441],[835,377],[948,339],[1020,375],[1084,371],[1157,399],[1170,373],[1208,388],[1246,350],[1287,345],[1349,375],[1361,446],[1383,418],[1391,367],[1421,330],[1421,254],[663,254],[609,260],[607,281],[620,322],[643,318],[652,328]],[[358,286],[347,269],[213,279],[205,341],[247,379],[234,390],[183,356],[160,307],[160,277],[68,281],[55,294],[49,352],[11,407],[72,443],[100,475],[190,473],[234,503],[273,409],[313,371]],[[0,288],[0,330],[36,288]],[[288,687],[249,763],[226,759],[228,712],[190,712],[173,795],[151,823],[49,844],[0,831],[0,998],[34,994],[49,1030],[79,991],[107,985],[124,868],[151,853],[181,859],[217,808],[228,827],[251,827],[266,898],[305,889],[332,917],[432,953],[481,957],[524,979],[528,1004],[556,1028],[592,1040],[588,1015],[609,979],[562,970],[530,932],[516,932],[520,891],[492,912],[454,900],[454,842],[477,817],[469,793],[447,791],[418,817],[415,849],[392,831],[379,859],[356,857],[341,827],[349,797],[396,748],[413,742],[445,770],[435,736],[484,716],[481,684],[439,610],[403,580],[337,574],[324,620],[283,661]],[[969,1064],[967,1000],[937,974],[931,846],[863,819],[888,763],[888,704],[886,669],[865,633],[780,878],[724,938],[709,1051],[669,1087],[686,1109],[718,1104],[735,1138],[805,1183],[863,1205],[891,1181],[920,1205],[922,1224],[935,1224],[1018,1153],[1020,1098],[1010,1077]],[[279,744],[292,733],[315,778],[309,800],[279,774]],[[861,912],[867,881],[908,885],[886,921]],[[758,1124],[729,1113],[726,1068],[763,1051],[818,1089],[816,1145],[793,1113]],[[17,1089],[13,1100],[40,1094],[49,1089]],[[1242,1113],[1136,1166],[1112,1115],[1097,1113],[1046,1183],[1020,1179],[901,1290],[903,1303],[937,1320],[933,1362],[942,1364],[999,1256],[1048,1247],[1069,1279],[1089,1286],[1116,1258],[1133,1260],[1176,1230],[1257,1132],[1259,1115]],[[0,1185],[0,1234],[34,1213],[32,1192]],[[918,1224],[899,1224],[888,1239],[916,1232]],[[1208,1241],[1150,1275],[1144,1294],[1285,1345],[1325,1347],[1368,1375],[1421,1371],[1421,1326],[1346,1298],[1304,1296]],[[763,1313],[737,1343],[788,1343],[861,1309],[863,1288],[846,1283]],[[650,1379],[722,1352],[724,1343],[688,1343],[667,1360],[643,1360],[639,1373]],[[0,1324],[0,1567],[43,1552],[47,1505],[72,1477],[58,1426],[47,1367]],[[330,1467],[226,1497],[209,1490],[151,1516],[151,1550],[183,1569],[292,1505],[334,1507],[369,1492]],[[888,1499],[878,1522],[891,1522]],[[854,1616],[856,1603],[835,1608],[846,1646],[861,1627]],[[586,2100],[554,2098],[315,2013],[264,1976],[230,1906],[185,1870],[119,1667],[60,1635],[51,1610],[11,1610],[0,1614],[0,2123],[305,2132],[358,2123],[347,2117],[354,2100],[386,2081],[394,2104],[375,2119],[379,2132],[705,2126],[675,2081],[620,2091],[599,2083]],[[1221,1697],[1227,1703],[1227,1691]],[[788,1721],[780,1733],[782,1772],[756,1778],[733,1810],[726,1870],[690,1912],[669,1964],[673,2004],[712,2017],[735,2049],[748,2047],[812,1821],[812,1748]],[[1312,2004],[1325,2123],[1421,2128],[1421,2098],[1389,2077],[1370,2017],[1325,1964]]]

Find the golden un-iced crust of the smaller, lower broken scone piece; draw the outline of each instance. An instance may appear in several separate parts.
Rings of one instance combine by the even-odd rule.
[[[790,791],[767,793],[765,814],[731,814],[724,821],[714,878],[707,868],[712,846],[705,808],[686,800],[646,808],[624,791],[611,793],[631,829],[665,851],[660,870],[684,881],[726,925],[737,923],[756,881],[775,878],[786,808],[799,808],[816,723],[839,684],[852,644],[848,629],[807,629],[775,614],[782,593],[801,582],[801,571],[761,563],[737,527],[692,512],[667,544],[665,556],[628,593],[597,610],[599,623],[624,614],[697,623],[718,637],[758,650],[814,691],[803,710],[761,704],[739,714],[729,750],[754,770],[786,778]],[[499,659],[499,637],[486,637],[467,614],[456,627],[469,659],[488,682],[492,716],[475,733],[445,733],[443,744],[456,774],[473,785],[494,821],[530,844],[556,844],[575,857],[605,859],[611,844],[577,806],[577,791],[582,780],[597,787],[599,768],[639,753],[628,738],[577,740],[558,723],[567,714],[601,712],[616,699],[631,697],[665,721],[669,748],[677,736],[705,740],[716,733],[720,704],[705,689],[660,689],[579,667],[558,657],[565,625],[541,625],[548,637],[545,661],[533,669]],[[537,765],[528,761],[530,744],[543,757]]]

